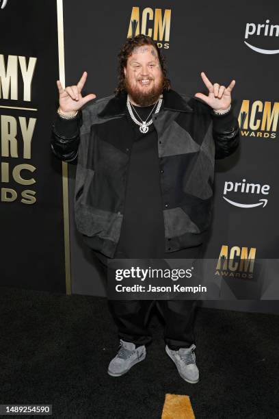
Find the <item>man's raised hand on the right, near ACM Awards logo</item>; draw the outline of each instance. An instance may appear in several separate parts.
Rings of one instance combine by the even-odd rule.
[[[220,86],[218,83],[212,84],[203,71],[200,75],[202,76],[205,86],[209,89],[209,95],[207,96],[206,94],[199,92],[196,93],[195,96],[202,99],[216,111],[227,110],[230,106],[230,92],[235,86],[235,80],[230,81],[230,84],[226,88],[225,86]]]

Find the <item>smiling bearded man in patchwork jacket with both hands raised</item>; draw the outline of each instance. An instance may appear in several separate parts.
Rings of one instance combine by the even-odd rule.
[[[118,88],[81,96],[87,73],[65,89],[51,149],[77,163],[75,221],[107,272],[107,261],[188,259],[202,255],[211,221],[214,160],[237,149],[239,125],[226,88],[202,80],[209,94],[170,88],[165,62],[149,36],[129,38],[119,55]],[[118,377],[146,356],[153,301],[110,300],[120,348],[108,373]],[[193,300],[160,300],[165,351],[181,377],[197,383]]]

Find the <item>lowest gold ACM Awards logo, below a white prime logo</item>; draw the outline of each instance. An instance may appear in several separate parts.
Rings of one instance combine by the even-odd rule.
[[[220,277],[234,277],[241,279],[252,279],[254,272],[254,262],[256,257],[256,248],[229,246],[223,244],[215,275]]]

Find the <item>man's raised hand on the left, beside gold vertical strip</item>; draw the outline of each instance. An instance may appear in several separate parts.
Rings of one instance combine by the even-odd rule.
[[[86,77],[87,73],[84,71],[77,86],[68,86],[65,89],[62,88],[60,80],[56,81],[59,90],[59,107],[64,114],[75,114],[85,103],[95,99],[96,94],[94,93],[88,94],[85,97],[81,96],[81,90],[85,84]]]

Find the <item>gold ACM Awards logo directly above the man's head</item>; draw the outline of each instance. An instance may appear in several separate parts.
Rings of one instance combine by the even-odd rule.
[[[170,9],[152,9],[133,7],[129,23],[127,38],[144,34],[157,41],[159,48],[170,47]]]

